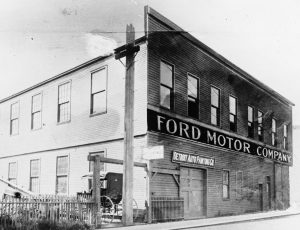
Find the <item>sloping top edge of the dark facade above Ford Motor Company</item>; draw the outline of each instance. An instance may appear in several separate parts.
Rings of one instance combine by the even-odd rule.
[[[213,58],[215,58],[221,64],[225,65],[227,68],[230,68],[235,73],[237,73],[240,78],[242,78],[242,79],[248,81],[249,83],[257,86],[258,88],[266,91],[271,96],[275,97],[275,99],[280,100],[281,102],[283,102],[285,104],[295,106],[295,104],[293,102],[291,102],[290,100],[288,100],[287,98],[285,98],[281,94],[277,93],[275,90],[273,90],[269,86],[265,85],[264,83],[262,83],[258,79],[254,78],[253,76],[251,76],[250,74],[248,74],[247,72],[245,72],[244,70],[242,70],[241,68],[239,68],[238,66],[233,64],[232,62],[230,62],[229,60],[227,60],[222,55],[218,54],[216,51],[214,51],[213,49],[211,49],[210,47],[208,47],[207,45],[205,45],[204,43],[199,41],[193,35],[189,34],[186,31],[184,31],[182,28],[180,28],[178,25],[176,25],[175,23],[173,23],[172,21],[170,21],[169,19],[167,19],[166,17],[164,17],[160,13],[158,13],[156,10],[152,9],[149,6],[145,6],[145,14],[148,14],[148,15],[156,18],[157,20],[159,20],[160,22],[165,24],[168,28],[170,28],[170,30],[174,30],[174,32],[180,33],[183,37],[188,39],[190,42],[192,42],[194,45],[196,45],[197,47],[202,49],[207,54],[211,55]],[[147,20],[148,20],[147,16],[145,16],[145,24],[146,23],[148,24]],[[147,35],[149,33],[153,33],[151,31],[147,31],[148,29],[149,28],[145,29],[145,33]]]

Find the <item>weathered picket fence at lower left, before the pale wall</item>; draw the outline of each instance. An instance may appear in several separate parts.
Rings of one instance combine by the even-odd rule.
[[[90,197],[37,196],[7,197],[0,201],[0,226],[41,219],[53,222],[93,223],[94,202]]]

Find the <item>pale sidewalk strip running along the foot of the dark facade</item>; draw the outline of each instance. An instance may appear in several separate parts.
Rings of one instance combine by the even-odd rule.
[[[290,208],[285,211],[271,211],[263,213],[245,214],[237,216],[227,216],[227,217],[215,217],[197,220],[185,220],[177,222],[167,222],[167,223],[155,223],[155,224],[145,224],[145,225],[134,225],[129,227],[109,227],[113,230],[175,230],[175,229],[188,229],[193,227],[205,227],[213,225],[228,224],[234,222],[244,222],[259,219],[270,219],[287,215],[299,215],[300,209]]]

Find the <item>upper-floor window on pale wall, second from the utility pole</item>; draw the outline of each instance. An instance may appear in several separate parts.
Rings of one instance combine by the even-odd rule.
[[[57,122],[67,122],[71,118],[71,83],[66,82],[58,86],[58,114]]]

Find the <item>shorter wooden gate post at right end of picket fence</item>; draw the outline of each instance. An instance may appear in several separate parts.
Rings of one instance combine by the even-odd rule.
[[[93,198],[95,201],[94,221],[95,227],[101,227],[101,187],[100,187],[100,155],[94,156],[93,170]]]

